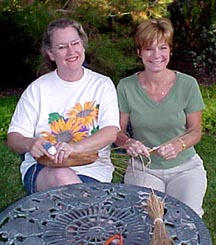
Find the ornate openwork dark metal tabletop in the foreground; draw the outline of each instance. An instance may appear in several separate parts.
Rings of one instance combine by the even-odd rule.
[[[151,190],[125,184],[76,184],[27,196],[0,213],[0,244],[104,245],[121,234],[124,245],[147,245],[153,222],[146,210]],[[165,200],[164,223],[178,245],[210,245],[200,217],[182,202]]]

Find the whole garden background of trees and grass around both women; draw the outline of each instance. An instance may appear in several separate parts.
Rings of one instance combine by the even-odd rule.
[[[5,139],[20,92],[45,72],[40,46],[48,22],[59,17],[80,21],[89,36],[88,66],[110,76],[117,85],[120,78],[141,68],[133,43],[137,24],[146,18],[169,17],[175,29],[170,68],[196,77],[206,104],[203,138],[196,149],[208,172],[204,221],[216,244],[215,9],[215,0],[1,0],[0,210],[25,195],[20,158],[7,148]],[[119,182],[124,161],[114,154],[113,160],[113,181]]]

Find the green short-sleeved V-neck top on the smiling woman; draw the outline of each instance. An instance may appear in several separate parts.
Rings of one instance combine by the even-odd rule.
[[[176,72],[176,81],[161,102],[152,100],[138,82],[137,74],[121,79],[118,86],[120,112],[128,113],[133,138],[147,147],[155,147],[186,131],[186,115],[204,109],[195,78]],[[178,166],[196,153],[194,147],[182,151],[175,159],[165,160],[152,154],[153,169]]]

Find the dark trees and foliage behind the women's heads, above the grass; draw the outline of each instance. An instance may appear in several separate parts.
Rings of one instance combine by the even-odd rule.
[[[139,69],[132,41],[135,26],[146,18],[170,16],[175,28],[170,67],[194,75],[203,83],[214,83],[215,8],[215,0],[3,0],[0,3],[0,43],[5,79],[0,86],[24,88],[38,76],[44,27],[59,17],[70,17],[83,24],[90,39],[89,66],[105,72],[117,83],[129,71]],[[98,44],[103,52],[98,52]]]

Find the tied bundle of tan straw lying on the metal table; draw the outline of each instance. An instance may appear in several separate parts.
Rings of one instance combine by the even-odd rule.
[[[154,231],[150,245],[172,245],[163,222],[164,202],[152,192],[147,200],[148,214],[154,221]]]

